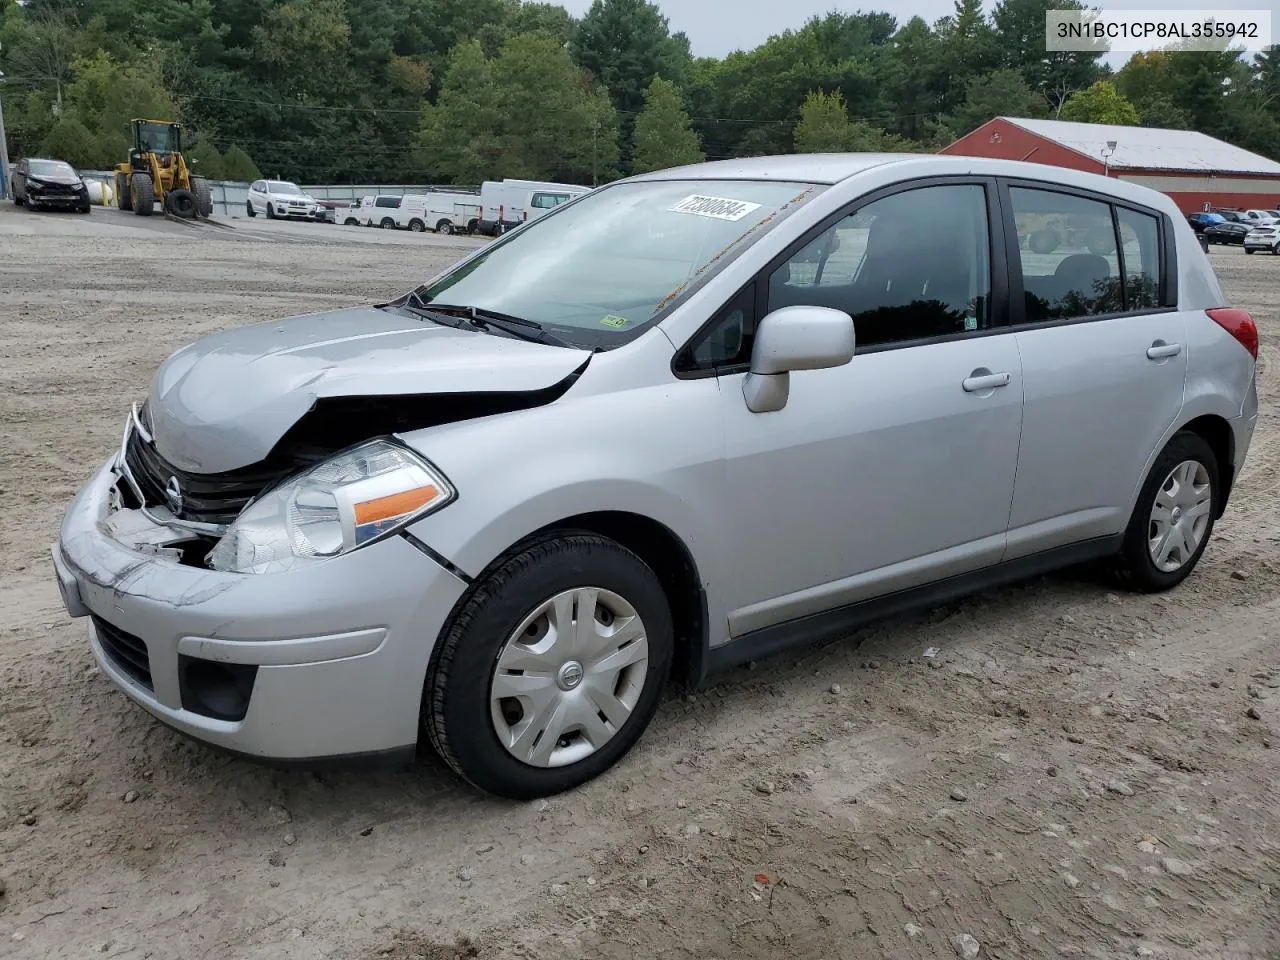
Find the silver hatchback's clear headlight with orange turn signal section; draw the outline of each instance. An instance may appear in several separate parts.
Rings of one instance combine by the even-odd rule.
[[[323,461],[253,500],[209,554],[214,570],[280,573],[396,532],[457,497],[406,447],[374,440]]]

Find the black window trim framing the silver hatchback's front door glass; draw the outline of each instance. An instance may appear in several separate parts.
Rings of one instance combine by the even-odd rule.
[[[938,337],[920,337],[914,340],[895,340],[892,343],[877,343],[869,347],[861,347],[855,343],[854,356],[868,356],[872,353],[882,353],[891,349],[906,349],[910,347],[927,347],[933,343],[948,343],[951,340],[959,339],[972,339],[978,337],[995,337],[998,334],[1009,333],[1010,330],[1010,289],[1009,279],[1010,270],[1007,265],[1007,250],[1009,239],[1006,232],[1009,229],[1010,219],[1005,216],[1007,211],[1001,209],[1002,196],[998,189],[998,178],[982,175],[982,174],[951,174],[951,175],[937,175],[937,177],[915,177],[909,180],[899,180],[897,183],[891,183],[888,186],[881,187],[878,189],[870,191],[861,195],[854,201],[845,204],[842,207],[832,214],[828,214],[814,227],[810,227],[804,234],[797,239],[792,241],[781,253],[778,253],[773,260],[765,264],[760,270],[758,270],[750,280],[739,287],[731,297],[727,297],[724,302],[712,314],[710,319],[707,320],[698,330],[685,340],[685,343],[676,351],[671,358],[671,371],[681,380],[698,380],[705,376],[732,376],[735,374],[748,372],[750,369],[750,361],[745,364],[733,364],[730,366],[712,366],[712,367],[699,367],[694,370],[681,370],[678,364],[681,360],[686,358],[694,349],[694,344],[698,343],[712,326],[714,326],[724,315],[724,311],[732,305],[748,287],[755,284],[755,303],[753,305],[751,315],[748,317],[750,329],[755,332],[756,324],[765,316],[769,308],[769,278],[773,271],[780,266],[791,260],[796,253],[804,250],[806,246],[813,243],[818,237],[829,230],[832,227],[838,224],[841,220],[852,216],[863,207],[874,204],[878,200],[895,196],[897,193],[908,193],[915,189],[923,189],[925,187],[982,187],[983,193],[987,200],[987,243],[988,250],[988,269],[991,271],[991,325],[982,330],[960,330],[956,333],[942,334]],[[1016,241],[1015,241],[1016,244]]]

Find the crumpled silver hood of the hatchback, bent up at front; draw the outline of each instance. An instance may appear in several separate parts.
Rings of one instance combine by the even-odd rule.
[[[589,356],[355,307],[196,340],[156,371],[147,411],[165,460],[215,474],[264,460],[323,398],[541,390]]]

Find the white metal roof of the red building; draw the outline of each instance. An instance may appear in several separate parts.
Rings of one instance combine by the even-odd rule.
[[[1280,164],[1248,150],[1224,143],[1194,131],[1165,131],[1153,127],[1116,127],[1105,123],[1028,120],[1001,116],[1037,137],[1102,160],[1107,141],[1116,142],[1111,169],[1196,170],[1198,173],[1252,173],[1280,177]]]

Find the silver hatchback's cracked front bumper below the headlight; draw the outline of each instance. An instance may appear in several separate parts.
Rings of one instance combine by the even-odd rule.
[[[182,564],[109,532],[113,465],[77,494],[52,548],[68,612],[92,617],[106,677],[169,726],[248,756],[413,749],[431,649],[465,584],[399,536],[279,575]],[[120,636],[145,649],[141,660],[122,659]],[[242,718],[209,716],[193,663],[252,675]]]

